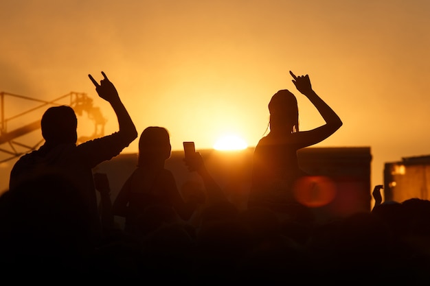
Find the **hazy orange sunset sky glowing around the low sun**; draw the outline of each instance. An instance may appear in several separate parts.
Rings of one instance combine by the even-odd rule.
[[[3,0],[0,91],[87,93],[111,133],[113,111],[87,77],[104,71],[139,133],[163,126],[174,150],[182,141],[203,149],[223,134],[256,145],[284,88],[297,95],[301,130],[317,127],[288,71],[307,73],[343,121],[316,147],[370,146],[381,184],[385,162],[430,154],[429,15],[427,0]],[[23,106],[5,99],[8,112]]]

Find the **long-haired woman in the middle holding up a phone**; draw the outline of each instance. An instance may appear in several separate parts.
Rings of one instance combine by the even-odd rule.
[[[170,208],[180,219],[188,221],[198,204],[203,203],[203,197],[183,200],[172,172],[165,168],[171,150],[170,135],[166,128],[150,126],[142,132],[137,168],[113,202],[113,214],[126,218],[124,230],[127,233],[139,233],[143,222],[150,223],[148,219],[166,219],[166,216],[157,218],[154,215],[155,208],[159,213],[166,213],[166,208]],[[211,184],[214,181],[207,173],[199,153],[193,158],[187,162],[190,169],[199,171],[203,182],[209,189],[213,188]],[[216,184],[214,186],[218,187]],[[171,218],[170,223],[173,222],[174,218]]]

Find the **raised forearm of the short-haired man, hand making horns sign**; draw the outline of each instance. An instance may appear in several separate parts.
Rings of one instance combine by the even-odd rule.
[[[128,141],[128,143],[131,143],[137,138],[137,130],[135,128],[135,124],[131,120],[130,115],[128,115],[128,111],[126,110],[124,104],[122,104],[120,96],[118,95],[113,83],[109,81],[103,71],[102,75],[104,79],[100,81],[100,84],[98,84],[98,82],[94,80],[92,75],[88,76],[91,82],[93,82],[95,86],[95,91],[97,91],[98,95],[102,97],[102,99],[106,100],[106,102],[109,102],[109,104],[111,104],[113,110],[115,111],[120,126],[119,133],[122,134],[124,140]]]

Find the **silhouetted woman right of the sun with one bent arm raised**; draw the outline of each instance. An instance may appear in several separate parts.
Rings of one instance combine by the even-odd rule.
[[[293,93],[284,89],[269,102],[270,132],[258,142],[253,154],[249,207],[264,206],[276,211],[297,205],[295,180],[304,176],[297,150],[326,139],[342,126],[337,114],[313,91],[308,75],[293,76],[297,90],[304,94],[326,121],[313,130],[299,131],[299,111]]]

